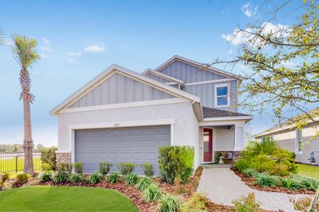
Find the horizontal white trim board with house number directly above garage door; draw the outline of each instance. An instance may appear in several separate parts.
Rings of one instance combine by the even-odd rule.
[[[69,129],[104,129],[104,128],[118,128],[131,126],[158,126],[174,124],[175,119],[149,119],[149,120],[135,120],[128,122],[103,122],[91,124],[70,124]]]

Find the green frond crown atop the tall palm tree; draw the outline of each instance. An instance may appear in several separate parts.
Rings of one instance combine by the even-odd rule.
[[[13,57],[18,61],[22,69],[32,67],[32,65],[40,59],[40,55],[35,49],[38,44],[35,39],[13,34],[12,40]]]

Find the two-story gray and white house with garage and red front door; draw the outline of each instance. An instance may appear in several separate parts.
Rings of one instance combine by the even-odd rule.
[[[235,158],[244,149],[244,126],[252,116],[237,112],[240,77],[174,56],[143,73],[111,65],[57,105],[57,163],[150,162],[158,173],[158,148],[195,148],[194,167],[216,155]],[[112,167],[116,170],[116,166]]]

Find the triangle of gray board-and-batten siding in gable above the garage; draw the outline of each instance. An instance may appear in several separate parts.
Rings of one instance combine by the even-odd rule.
[[[99,86],[96,86],[96,88],[70,105],[69,108],[169,98],[174,98],[174,96],[119,73],[114,73]]]

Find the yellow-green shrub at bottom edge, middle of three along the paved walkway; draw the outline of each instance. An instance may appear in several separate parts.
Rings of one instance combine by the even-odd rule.
[[[259,211],[259,203],[254,198],[254,193],[250,193],[247,196],[242,196],[240,199],[235,199],[233,201],[235,205],[236,212],[254,212]]]

